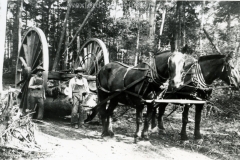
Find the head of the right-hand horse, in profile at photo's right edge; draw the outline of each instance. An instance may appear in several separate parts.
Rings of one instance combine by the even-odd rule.
[[[232,57],[233,56],[230,53],[224,58],[224,66],[222,68],[220,79],[222,79],[228,85],[233,86],[235,89],[239,89],[240,75],[237,68],[235,68],[233,65]]]

